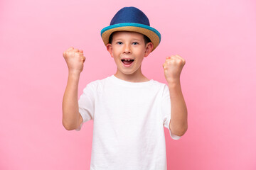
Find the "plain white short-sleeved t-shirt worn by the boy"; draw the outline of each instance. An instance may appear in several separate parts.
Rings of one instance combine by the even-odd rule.
[[[166,84],[112,75],[87,84],[78,104],[83,122],[76,130],[94,121],[91,170],[167,169],[164,127],[169,129],[171,102]]]

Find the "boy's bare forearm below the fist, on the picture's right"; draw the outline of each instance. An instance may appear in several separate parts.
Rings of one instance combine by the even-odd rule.
[[[188,129],[188,113],[181,91],[181,83],[179,80],[169,81],[168,86],[171,98],[171,123],[169,126],[174,135],[182,136]]]

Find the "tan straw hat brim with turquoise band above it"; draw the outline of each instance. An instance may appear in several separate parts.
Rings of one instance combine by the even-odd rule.
[[[109,43],[110,35],[116,31],[131,31],[146,35],[153,43],[153,50],[161,41],[161,34],[154,28],[139,23],[118,23],[102,29],[101,37],[105,45]]]

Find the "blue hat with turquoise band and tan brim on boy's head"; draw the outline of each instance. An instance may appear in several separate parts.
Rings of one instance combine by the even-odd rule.
[[[120,9],[112,18],[110,26],[101,30],[101,37],[105,45],[109,43],[110,35],[116,31],[132,31],[146,35],[154,45],[153,50],[161,41],[161,34],[150,26],[149,18],[133,6]]]

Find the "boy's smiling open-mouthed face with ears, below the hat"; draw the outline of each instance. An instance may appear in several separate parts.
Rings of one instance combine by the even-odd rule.
[[[129,31],[113,33],[112,44],[107,44],[107,50],[114,58],[117,64],[117,74],[120,76],[140,74],[142,61],[152,49],[152,42],[145,45],[144,35]]]

